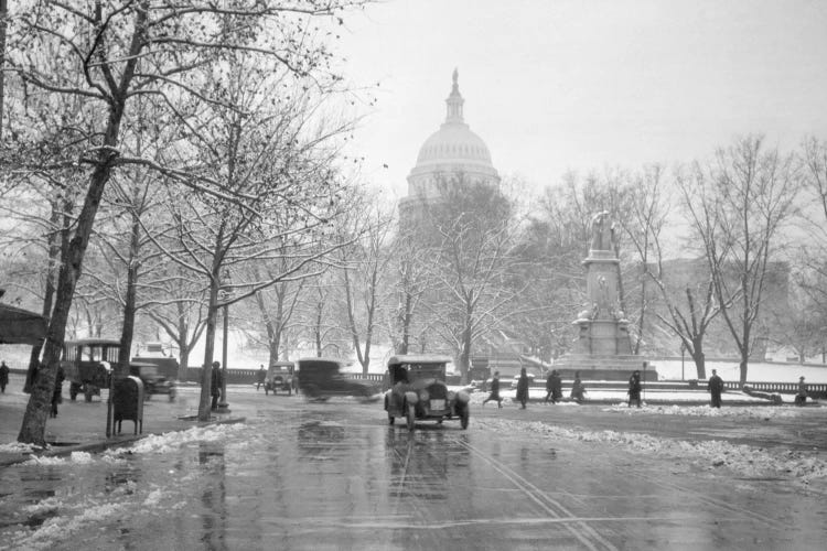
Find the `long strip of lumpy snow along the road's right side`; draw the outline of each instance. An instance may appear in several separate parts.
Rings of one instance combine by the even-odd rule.
[[[727,467],[745,477],[792,477],[805,485],[815,479],[827,482],[827,462],[807,452],[765,450],[722,441],[687,442],[610,430],[583,431],[539,421],[477,419],[474,424],[504,434],[533,433],[556,440],[609,444],[632,453],[683,458],[709,469]]]

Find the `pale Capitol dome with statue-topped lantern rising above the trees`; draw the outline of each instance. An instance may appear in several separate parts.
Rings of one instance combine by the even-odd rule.
[[[465,100],[460,95],[459,74],[453,72],[453,86],[445,99],[445,121],[419,149],[417,164],[408,174],[408,196],[399,202],[405,219],[418,205],[441,199],[441,185],[458,177],[465,182],[498,184],[500,174],[491,162],[485,142],[469,128],[463,117]]]

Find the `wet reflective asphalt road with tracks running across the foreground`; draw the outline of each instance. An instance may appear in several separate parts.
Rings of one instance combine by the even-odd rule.
[[[715,433],[708,422],[477,406],[468,431],[409,433],[377,402],[249,389],[229,401],[247,422],[205,440],[1,471],[0,549],[819,549],[827,538],[824,495],[784,479],[486,428],[551,414],[668,436]]]

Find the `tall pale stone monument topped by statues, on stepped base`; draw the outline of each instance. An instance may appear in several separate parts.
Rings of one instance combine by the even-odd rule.
[[[611,215],[605,210],[595,214],[589,256],[583,260],[588,302],[572,322],[577,327],[572,350],[559,358],[555,368],[569,376],[580,371],[582,378],[592,380],[625,380],[640,369],[642,378],[656,380],[654,369],[645,369],[643,358],[632,354],[629,320],[621,309],[615,244]]]

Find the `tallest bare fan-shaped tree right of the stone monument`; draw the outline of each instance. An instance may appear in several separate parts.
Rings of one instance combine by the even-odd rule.
[[[721,315],[740,355],[740,382],[759,338],[762,301],[774,277],[771,259],[794,214],[799,180],[792,156],[747,137],[718,150],[706,169],[680,183],[684,204],[712,278]]]

